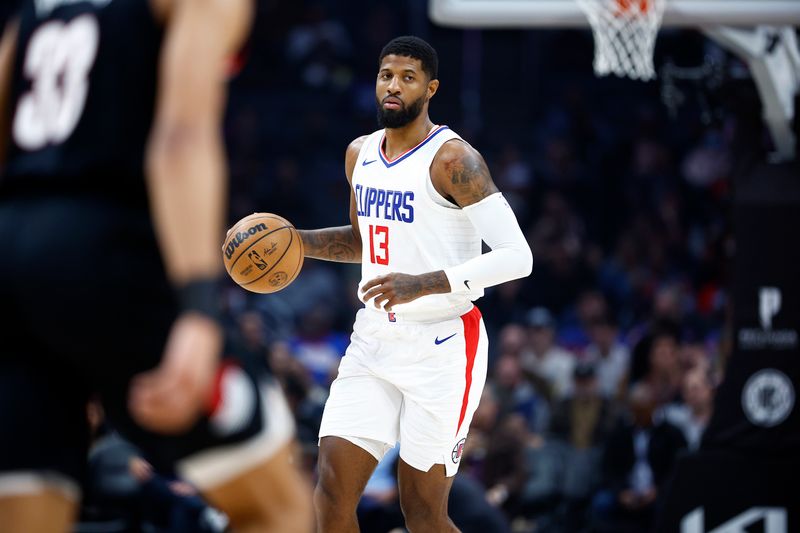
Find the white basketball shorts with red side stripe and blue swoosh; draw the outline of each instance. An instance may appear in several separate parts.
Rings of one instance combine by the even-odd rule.
[[[391,322],[361,309],[331,385],[319,437],[361,445],[380,461],[400,443],[400,458],[427,472],[458,471],[472,415],[486,381],[488,341],[480,311],[432,323]]]

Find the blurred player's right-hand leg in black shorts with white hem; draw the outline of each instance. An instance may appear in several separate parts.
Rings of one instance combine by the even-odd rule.
[[[311,484],[293,461],[294,419],[278,383],[232,360],[218,376],[216,408],[186,434],[155,435],[124,406],[126,387],[108,401],[109,418],[156,469],[175,464],[181,479],[225,512],[234,531],[308,533]],[[109,393],[111,394],[111,393]]]

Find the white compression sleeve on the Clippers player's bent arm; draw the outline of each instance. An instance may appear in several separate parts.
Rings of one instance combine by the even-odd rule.
[[[491,251],[444,270],[451,292],[466,293],[530,275],[531,248],[502,193],[463,210]]]

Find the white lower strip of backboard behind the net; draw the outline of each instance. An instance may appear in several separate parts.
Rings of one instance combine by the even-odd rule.
[[[429,0],[431,20],[459,28],[589,25],[575,0]],[[668,0],[663,26],[800,26],[800,0]]]

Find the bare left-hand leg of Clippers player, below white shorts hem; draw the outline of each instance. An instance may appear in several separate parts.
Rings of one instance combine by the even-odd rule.
[[[357,533],[356,508],[378,460],[361,446],[341,437],[322,437],[319,445],[319,481],[314,509],[320,531]],[[383,447],[382,443],[368,443]]]

